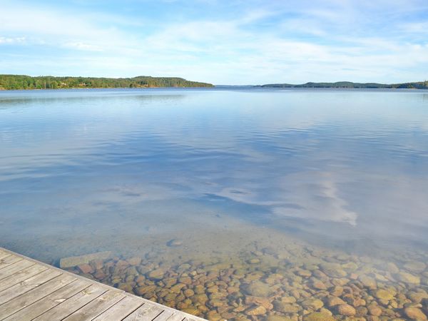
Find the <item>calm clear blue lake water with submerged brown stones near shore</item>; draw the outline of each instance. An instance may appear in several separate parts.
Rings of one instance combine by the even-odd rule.
[[[0,92],[0,214],[210,320],[428,315],[428,92]]]

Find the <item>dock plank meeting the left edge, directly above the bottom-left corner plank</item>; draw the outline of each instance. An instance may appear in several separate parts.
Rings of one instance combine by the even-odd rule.
[[[29,292],[29,290],[32,290],[35,287],[42,285],[44,282],[48,282],[49,280],[52,280],[54,279],[54,277],[58,277],[58,275],[61,274],[61,272],[58,272],[56,270],[46,270],[39,273],[38,275],[34,275],[34,277],[30,277],[29,279],[14,285],[13,287],[9,287],[8,289],[1,291],[0,305],[14,299],[15,297],[25,292]]]

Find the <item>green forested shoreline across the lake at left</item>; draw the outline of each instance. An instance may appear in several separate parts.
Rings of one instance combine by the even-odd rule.
[[[95,78],[0,75],[0,90],[153,87],[214,87],[214,85],[211,83],[188,81],[177,77],[138,76],[133,78]]]

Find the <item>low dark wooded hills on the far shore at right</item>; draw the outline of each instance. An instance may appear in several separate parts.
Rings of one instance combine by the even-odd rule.
[[[267,88],[409,88],[409,89],[428,89],[428,81],[419,81],[414,83],[352,83],[350,81],[338,81],[336,83],[302,83],[292,85],[290,83],[269,83],[255,87]]]

